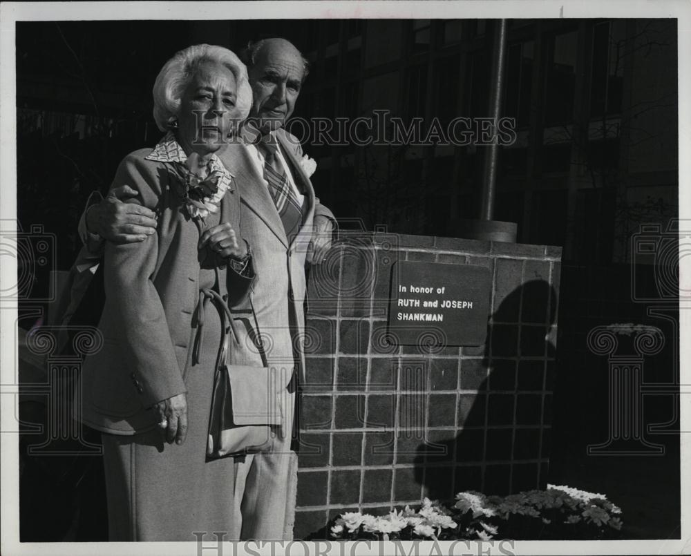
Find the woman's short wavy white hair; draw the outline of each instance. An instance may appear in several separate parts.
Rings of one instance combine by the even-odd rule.
[[[195,44],[176,52],[158,73],[153,84],[153,119],[161,131],[167,131],[171,122],[178,118],[182,93],[198,66],[205,61],[225,66],[235,76],[236,114],[245,119],[252,107],[252,88],[247,81],[247,68],[240,59],[223,46]]]

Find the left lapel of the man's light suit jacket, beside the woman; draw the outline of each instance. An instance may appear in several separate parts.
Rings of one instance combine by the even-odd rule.
[[[263,186],[263,178],[256,171],[247,147],[243,144],[230,144],[223,149],[219,157],[228,171],[235,176],[243,202],[265,222],[276,238],[288,247],[281,217],[276,211],[276,205],[269,191]]]

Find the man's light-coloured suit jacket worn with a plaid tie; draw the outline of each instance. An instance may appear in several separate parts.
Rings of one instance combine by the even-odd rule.
[[[274,133],[292,176],[305,195],[303,223],[291,242],[286,238],[274,201],[248,147],[231,144],[219,157],[236,176],[240,191],[243,204],[240,234],[252,247],[256,274],[252,283],[252,300],[261,334],[267,338],[265,346],[269,363],[287,371],[283,376],[289,381],[293,369],[298,370],[303,378],[305,372],[305,259],[312,241],[314,216],[334,217],[314,195],[310,178],[301,166],[299,142],[283,129]],[[245,324],[240,330],[249,334],[250,326],[254,324],[251,311],[245,307],[244,310],[234,309],[234,313],[238,322]],[[244,338],[240,344],[240,349],[236,350],[236,362],[261,364],[251,338]]]

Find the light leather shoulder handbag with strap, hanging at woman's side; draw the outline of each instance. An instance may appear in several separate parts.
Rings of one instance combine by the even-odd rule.
[[[239,343],[236,325],[223,298],[216,291],[207,291],[212,291],[214,301],[223,305],[220,315],[224,331],[211,396],[207,458],[267,452],[276,434],[281,433],[281,391],[285,383],[281,382],[276,367],[269,367],[267,363],[252,298],[255,344],[261,354],[262,367],[232,362],[234,350],[230,348],[231,342]]]

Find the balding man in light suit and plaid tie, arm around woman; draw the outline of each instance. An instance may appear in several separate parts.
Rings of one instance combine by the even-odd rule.
[[[305,265],[329,247],[334,218],[314,196],[299,142],[283,129],[307,75],[307,62],[285,39],[250,44],[243,58],[254,93],[252,127],[246,127],[254,132],[252,144],[229,144],[218,155],[234,173],[242,196],[242,221],[229,225],[239,227],[251,248],[257,325],[268,340],[269,365],[286,372],[290,396],[284,404],[283,433],[272,452],[236,462],[236,492],[244,494],[236,497],[238,523],[233,529],[241,530],[241,539],[286,539],[294,516],[296,457],[290,442],[296,375],[304,376],[305,368]],[[155,231],[153,212],[124,202],[136,195],[124,186],[100,202],[91,198],[80,234],[94,258],[102,238],[137,242]],[[208,240],[203,233],[200,245]]]

